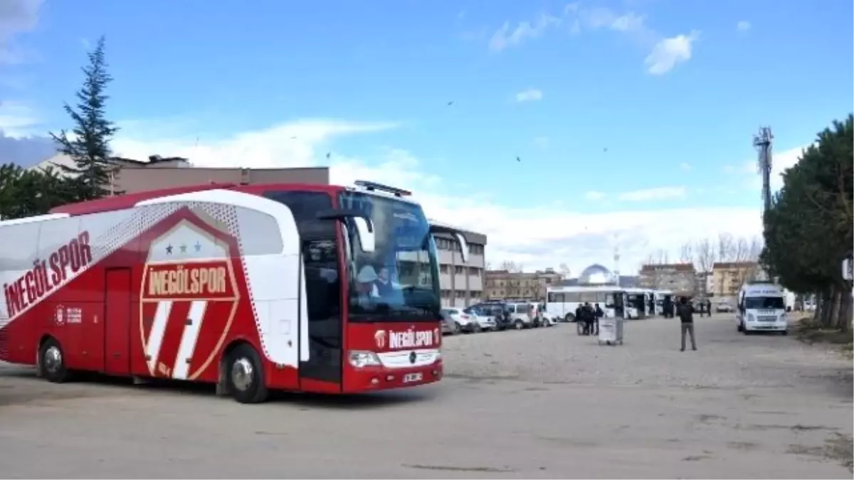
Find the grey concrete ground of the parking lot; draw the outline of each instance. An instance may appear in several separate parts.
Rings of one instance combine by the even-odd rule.
[[[0,478],[851,478],[854,362],[729,315],[682,353],[676,321],[448,337],[435,386],[258,406],[0,366]]]

